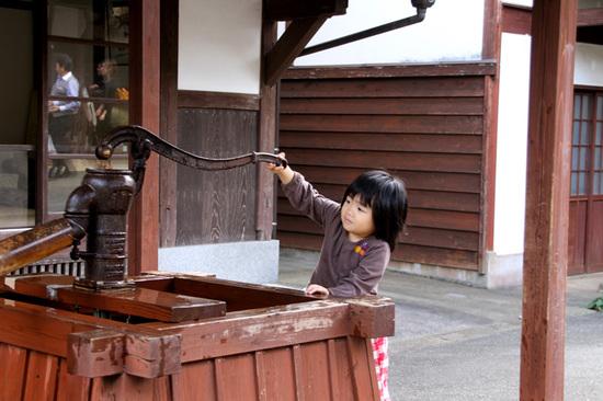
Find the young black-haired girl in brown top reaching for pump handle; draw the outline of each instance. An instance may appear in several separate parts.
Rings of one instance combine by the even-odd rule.
[[[320,195],[288,165],[269,163],[268,169],[278,174],[292,205],[325,229],[318,264],[306,294],[377,294],[377,284],[405,229],[408,200],[402,182],[385,171],[364,173],[350,184],[338,204]],[[382,400],[389,400],[387,337],[374,339],[373,351]]]

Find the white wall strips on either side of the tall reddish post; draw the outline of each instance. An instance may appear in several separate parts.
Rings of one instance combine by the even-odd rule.
[[[486,255],[492,286],[522,283],[530,56],[530,35],[502,34],[494,242]],[[602,77],[603,46],[577,43],[574,84],[603,87]]]

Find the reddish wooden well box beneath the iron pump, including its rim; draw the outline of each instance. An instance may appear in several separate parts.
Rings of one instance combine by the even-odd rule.
[[[153,272],[134,290],[1,277],[1,400],[378,400],[385,298]]]

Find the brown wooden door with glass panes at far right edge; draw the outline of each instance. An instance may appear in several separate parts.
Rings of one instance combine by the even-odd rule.
[[[573,101],[568,274],[603,271],[603,93]]]

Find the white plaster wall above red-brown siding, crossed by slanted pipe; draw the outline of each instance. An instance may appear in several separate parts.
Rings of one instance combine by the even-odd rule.
[[[295,66],[480,60],[483,3],[436,0],[418,24],[298,57]],[[308,46],[414,14],[410,0],[350,0],[346,14],[329,19]]]

